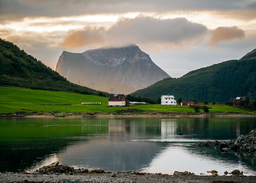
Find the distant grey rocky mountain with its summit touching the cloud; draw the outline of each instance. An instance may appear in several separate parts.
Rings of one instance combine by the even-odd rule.
[[[83,53],[63,51],[56,71],[72,83],[128,94],[170,77],[137,45],[100,48]],[[93,84],[93,85],[92,85]]]

